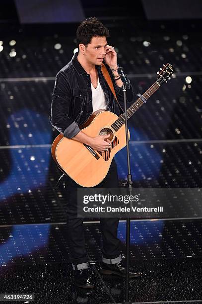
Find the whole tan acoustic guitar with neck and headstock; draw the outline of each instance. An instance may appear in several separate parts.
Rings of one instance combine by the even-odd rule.
[[[146,103],[162,83],[171,78],[173,66],[164,65],[157,74],[156,81],[142,95],[137,94],[138,99],[127,110],[127,119]],[[107,175],[114,155],[126,146],[125,116],[98,110],[79,127],[90,137],[110,134],[111,148],[105,152],[96,151],[88,145],[64,137],[61,133],[54,140],[51,152],[58,167],[77,184],[94,187]]]

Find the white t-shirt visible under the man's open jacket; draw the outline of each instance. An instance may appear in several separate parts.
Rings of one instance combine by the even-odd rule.
[[[97,78],[97,87],[94,88],[94,86],[91,83],[91,90],[92,90],[92,98],[93,98],[93,112],[100,110],[100,109],[107,109],[106,101],[105,101],[105,95],[103,92],[103,89],[100,85],[99,77]]]

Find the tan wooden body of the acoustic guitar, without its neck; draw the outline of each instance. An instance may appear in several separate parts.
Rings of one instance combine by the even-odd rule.
[[[82,132],[91,137],[99,134],[111,134],[112,146],[108,151],[98,152],[76,140],[60,134],[52,145],[52,156],[62,171],[82,187],[94,187],[107,175],[114,155],[126,146],[125,124],[114,131],[110,126],[118,116],[109,111],[91,115],[88,121],[80,126]],[[129,131],[128,131],[129,132]],[[130,138],[130,133],[129,133]]]

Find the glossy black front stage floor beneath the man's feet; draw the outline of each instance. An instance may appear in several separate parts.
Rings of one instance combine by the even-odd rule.
[[[36,304],[122,303],[125,280],[99,274],[99,223],[84,227],[94,290],[73,283],[66,224],[31,224],[0,227],[0,293],[32,293]],[[120,221],[123,259],[125,231]],[[202,303],[202,220],[132,221],[131,265],[142,272],[130,279],[132,303]]]

